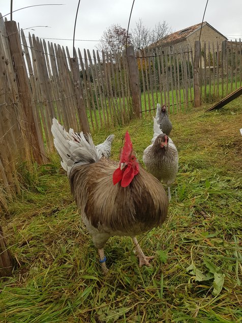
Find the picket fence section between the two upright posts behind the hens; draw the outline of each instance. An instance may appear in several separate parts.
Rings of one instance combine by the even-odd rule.
[[[169,113],[186,111],[193,104],[194,57],[190,46],[139,51],[137,61],[144,115],[154,113],[157,103],[165,103]]]

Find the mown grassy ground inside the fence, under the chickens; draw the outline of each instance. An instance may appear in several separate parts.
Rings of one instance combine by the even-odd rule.
[[[238,98],[218,111],[171,115],[179,171],[168,219],[138,238],[156,256],[151,268],[139,268],[129,237],[113,237],[103,277],[58,157],[33,173],[21,165],[22,195],[0,222],[16,259],[0,282],[0,321],[242,322],[241,106]],[[152,118],[112,131],[113,159],[126,130],[141,162]]]

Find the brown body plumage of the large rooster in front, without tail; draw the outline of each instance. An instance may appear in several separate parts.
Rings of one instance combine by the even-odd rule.
[[[162,224],[167,216],[165,190],[153,175],[140,167],[130,185],[122,187],[112,183],[117,167],[118,163],[103,159],[74,167],[70,174],[71,191],[99,249],[111,236],[136,236]]]

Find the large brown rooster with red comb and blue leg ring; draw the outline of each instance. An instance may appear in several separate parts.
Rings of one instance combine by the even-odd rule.
[[[119,162],[103,158],[88,134],[78,141],[53,120],[54,145],[67,170],[71,192],[82,220],[98,248],[103,273],[107,273],[104,246],[112,236],[130,236],[139,266],[150,266],[137,234],[162,224],[168,212],[168,198],[161,183],[138,163],[127,132]]]

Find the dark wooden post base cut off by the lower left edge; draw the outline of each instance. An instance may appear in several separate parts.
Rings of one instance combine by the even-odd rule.
[[[0,277],[10,276],[13,266],[14,260],[6,247],[3,230],[0,226]]]

